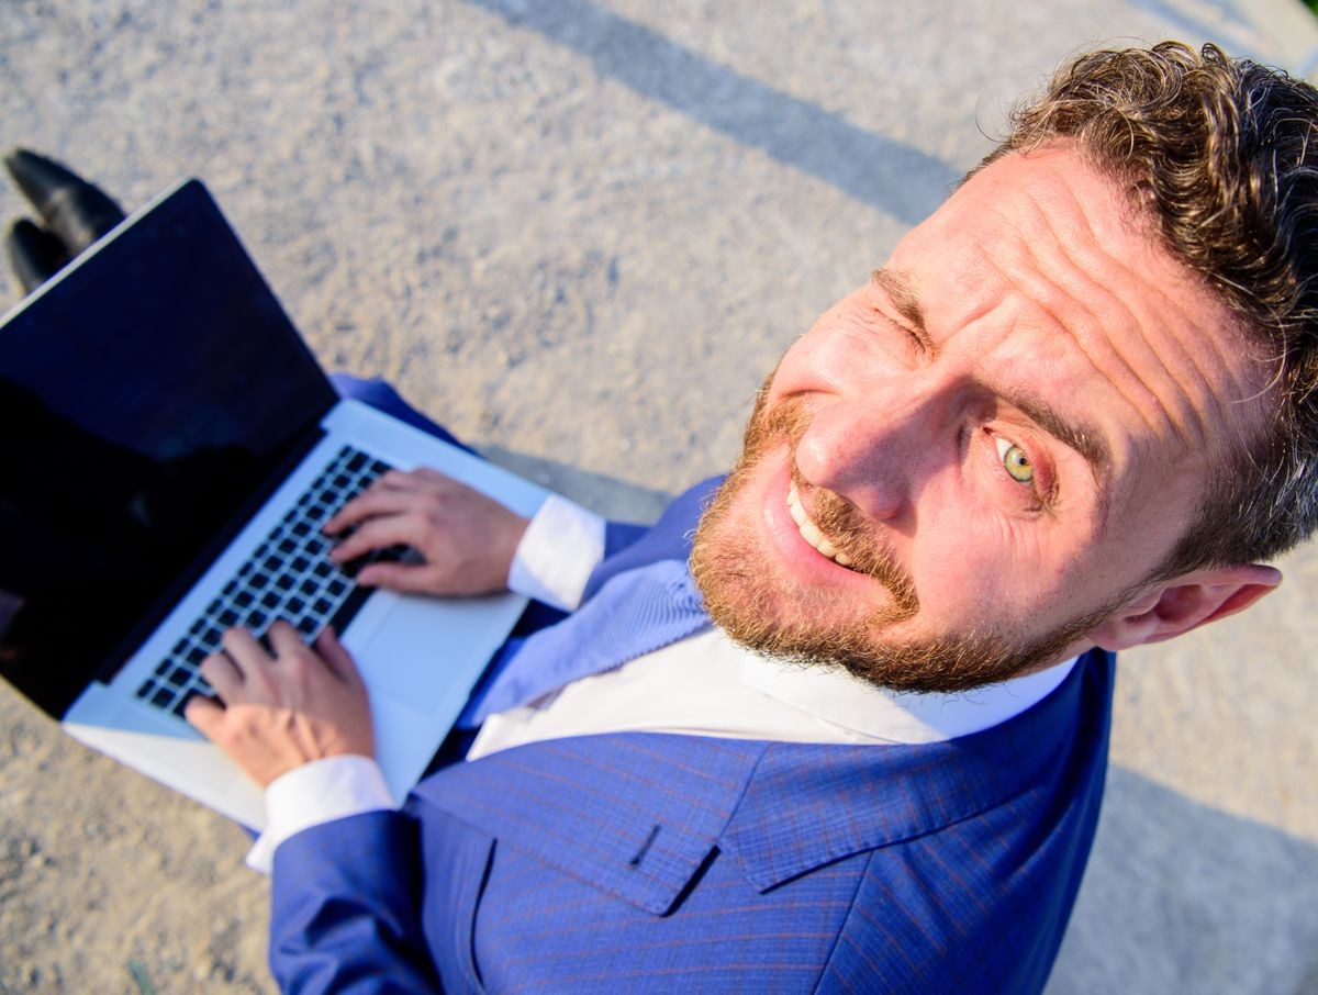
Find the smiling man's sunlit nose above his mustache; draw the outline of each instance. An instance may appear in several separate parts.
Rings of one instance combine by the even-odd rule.
[[[832,398],[815,409],[796,469],[869,518],[895,522],[946,463],[949,445],[954,451],[953,390],[932,373],[913,373]]]

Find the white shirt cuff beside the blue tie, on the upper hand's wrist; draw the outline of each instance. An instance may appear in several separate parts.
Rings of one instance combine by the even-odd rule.
[[[604,527],[594,511],[550,494],[518,543],[509,588],[572,611],[581,604],[590,571],[604,559]]]

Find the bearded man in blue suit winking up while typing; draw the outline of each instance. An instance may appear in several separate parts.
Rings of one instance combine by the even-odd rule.
[[[225,637],[188,718],[270,785],[281,983],[1041,988],[1111,654],[1314,526],[1315,120],[1213,47],[1081,57],[787,352],[717,492],[639,538],[424,472],[347,506],[341,557],[424,557],[362,583],[576,610],[402,812],[332,634]]]

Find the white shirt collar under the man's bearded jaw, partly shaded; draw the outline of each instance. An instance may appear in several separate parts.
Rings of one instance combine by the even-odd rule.
[[[1006,722],[1045,698],[1079,659],[974,691],[925,695],[879,688],[842,669],[774,660],[720,635],[739,658],[747,687],[886,743],[937,743]]]

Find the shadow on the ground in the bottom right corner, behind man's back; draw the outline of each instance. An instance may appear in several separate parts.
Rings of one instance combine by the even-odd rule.
[[[1112,768],[1048,995],[1311,995],[1315,908],[1318,846]]]

